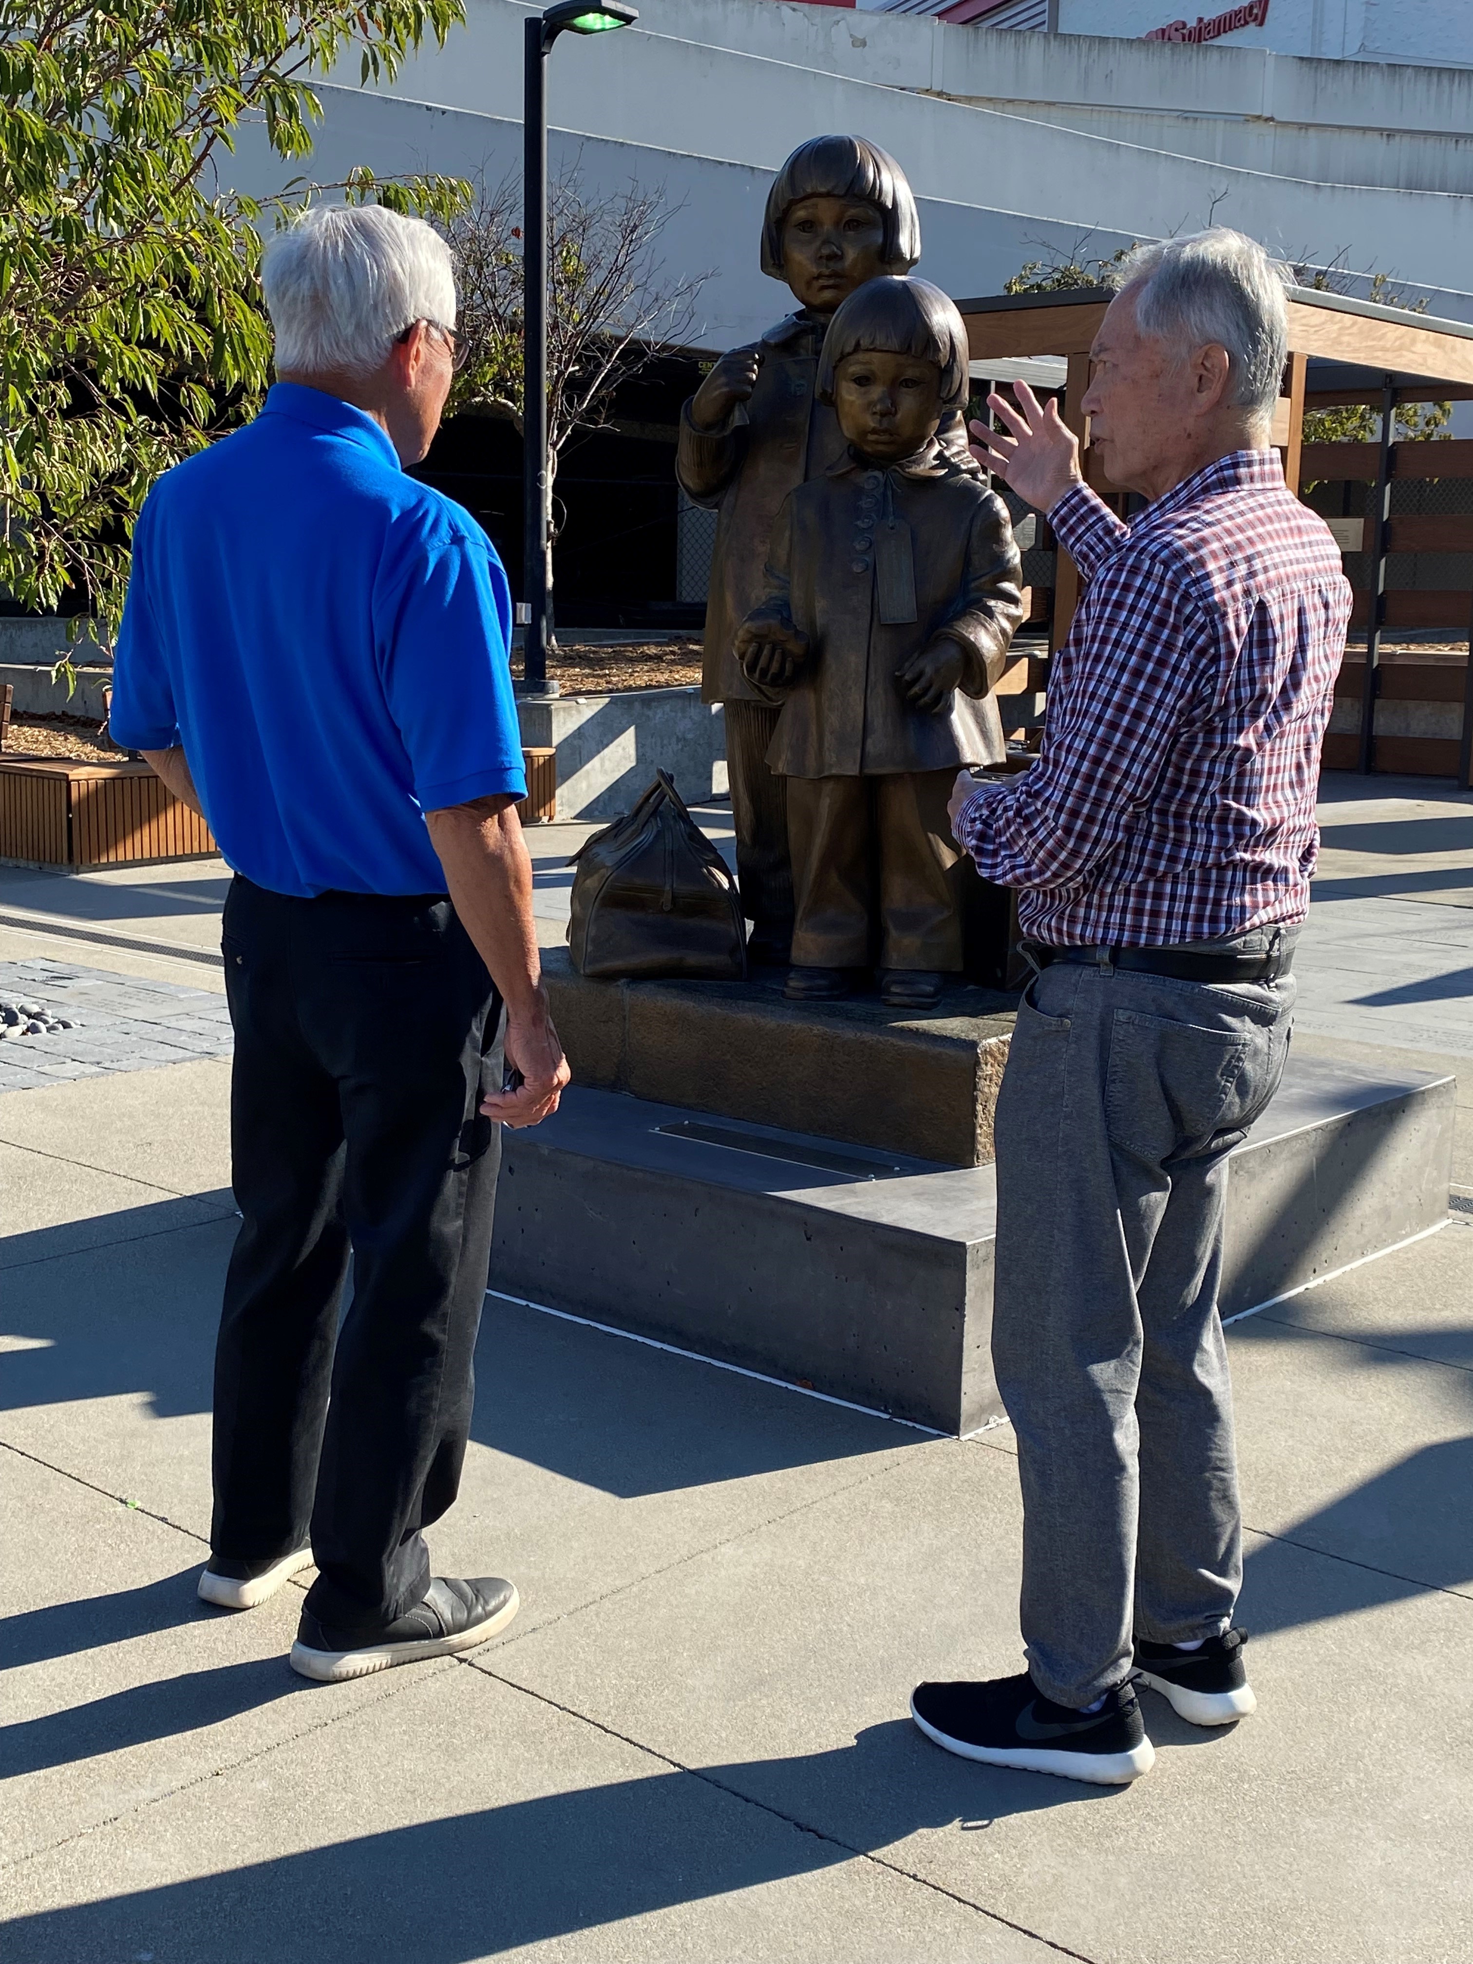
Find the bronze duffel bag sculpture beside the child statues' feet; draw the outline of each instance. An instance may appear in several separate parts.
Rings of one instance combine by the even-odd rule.
[[[634,809],[577,850],[568,949],[605,982],[740,982],[746,925],[736,874],[658,772]]]

